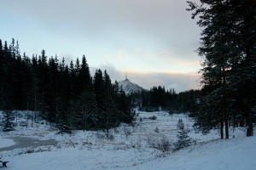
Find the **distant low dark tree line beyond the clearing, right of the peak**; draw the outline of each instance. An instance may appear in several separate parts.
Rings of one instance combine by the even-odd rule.
[[[189,90],[176,93],[174,88],[166,90],[165,87],[153,87],[149,91],[131,94],[131,104],[140,106],[144,111],[165,110],[172,113],[198,111],[201,90]]]

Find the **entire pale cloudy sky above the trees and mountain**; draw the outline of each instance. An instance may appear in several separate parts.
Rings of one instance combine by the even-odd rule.
[[[0,39],[68,65],[84,54],[91,75],[106,69],[112,82],[127,74],[143,88],[181,92],[201,88],[201,29],[186,8],[186,0],[0,0]]]

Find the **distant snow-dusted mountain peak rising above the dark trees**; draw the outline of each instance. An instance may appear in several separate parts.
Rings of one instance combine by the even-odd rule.
[[[122,88],[125,91],[125,94],[134,94],[142,91],[147,91],[136,83],[130,82],[127,76],[125,77],[125,80],[119,82],[119,88]]]

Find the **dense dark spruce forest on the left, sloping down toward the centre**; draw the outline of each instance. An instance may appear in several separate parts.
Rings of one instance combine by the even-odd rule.
[[[69,65],[64,58],[48,57],[44,49],[29,58],[20,55],[19,42],[0,40],[0,110],[34,111],[55,122],[61,132],[72,129],[109,129],[132,122],[134,113],[118,82],[107,71],[90,76],[85,56]]]

